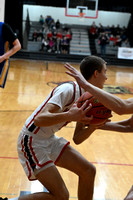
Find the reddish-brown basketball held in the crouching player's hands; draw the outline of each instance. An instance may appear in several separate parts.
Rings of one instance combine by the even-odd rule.
[[[92,108],[87,113],[88,117],[93,115],[93,119],[89,122],[89,124],[100,125],[112,116],[111,110],[109,110],[103,104],[101,104],[98,101],[98,99],[96,99],[89,92],[85,92],[80,96],[77,102],[77,106],[80,108],[85,103],[86,100],[89,100],[88,105],[89,103],[92,104]]]

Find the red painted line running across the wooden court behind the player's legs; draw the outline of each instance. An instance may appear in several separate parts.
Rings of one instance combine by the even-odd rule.
[[[18,160],[18,157],[0,156],[0,159],[14,159],[14,160]],[[96,164],[96,165],[116,165],[116,166],[120,165],[120,166],[133,167],[133,164],[126,164],[126,163],[108,163],[108,162],[91,162],[91,163]]]

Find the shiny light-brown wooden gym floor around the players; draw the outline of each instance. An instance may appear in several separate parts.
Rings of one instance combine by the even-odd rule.
[[[17,137],[32,111],[44,100],[56,82],[73,80],[65,74],[64,63],[11,59],[5,89],[0,89],[0,196],[14,198],[20,193],[42,191],[38,181],[30,182],[17,157]],[[79,67],[79,64],[73,64]],[[133,68],[108,66],[106,86],[133,89]],[[133,90],[132,90],[133,91]],[[121,98],[133,94],[116,94]],[[112,121],[128,118],[113,113]],[[123,200],[133,184],[133,135],[95,131],[80,145],[72,141],[75,123],[58,132],[70,140],[97,169],[94,200]],[[59,169],[70,191],[77,199],[77,176]]]

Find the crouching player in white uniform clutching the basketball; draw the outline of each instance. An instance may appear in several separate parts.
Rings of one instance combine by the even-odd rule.
[[[103,88],[107,79],[103,59],[89,56],[81,64],[83,76]],[[84,89],[77,82],[64,82],[52,90],[42,104],[26,120],[18,138],[19,160],[29,180],[38,180],[48,190],[22,196],[19,200],[68,200],[69,192],[56,166],[78,175],[78,200],[92,200],[96,169],[63,137],[59,131],[70,121],[76,121],[75,134],[93,131],[83,124],[92,120],[85,116],[91,108],[75,103]],[[87,102],[86,102],[87,103]]]

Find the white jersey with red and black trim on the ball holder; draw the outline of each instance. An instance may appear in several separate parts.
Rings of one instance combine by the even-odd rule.
[[[23,132],[28,135],[34,135],[36,137],[45,137],[49,138],[55,132],[60,130],[63,126],[65,126],[68,121],[62,122],[56,125],[47,126],[47,127],[36,127],[34,125],[34,118],[38,115],[41,110],[48,103],[52,103],[58,105],[60,107],[59,112],[65,112],[70,109],[72,104],[81,96],[83,93],[83,89],[77,84],[77,82],[67,82],[63,83],[52,90],[52,92],[48,95],[48,97],[41,103],[40,106],[31,114],[31,116],[26,120],[25,126],[23,127]],[[32,131],[30,127],[32,126]]]

